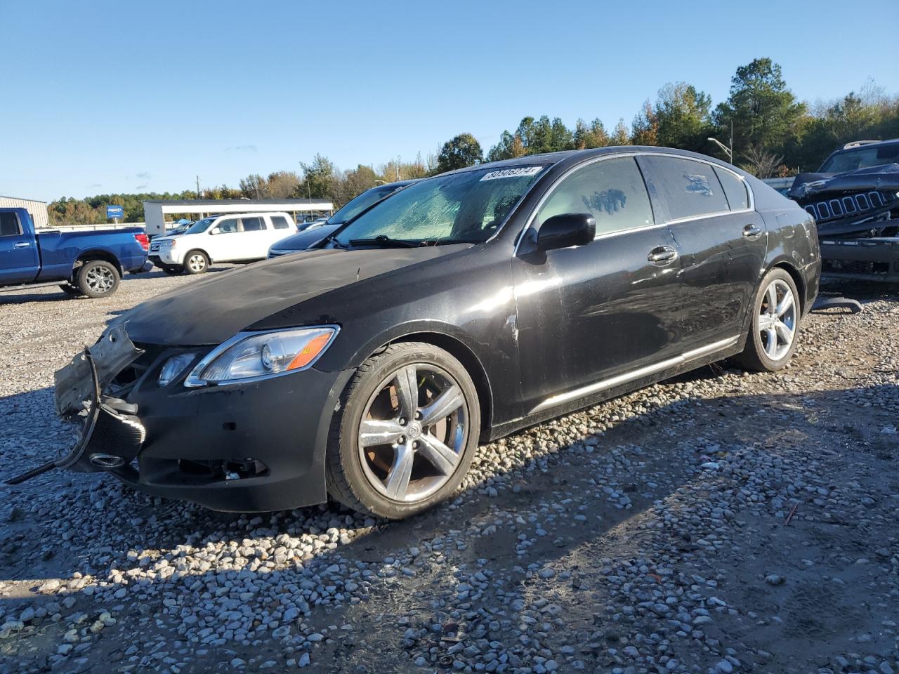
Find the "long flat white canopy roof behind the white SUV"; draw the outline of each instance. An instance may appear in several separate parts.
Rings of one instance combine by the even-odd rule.
[[[263,213],[271,211],[287,211],[297,219],[298,213],[332,215],[334,203],[319,199],[185,199],[144,201],[144,222],[147,234],[165,234],[165,215],[207,215],[224,213]]]

